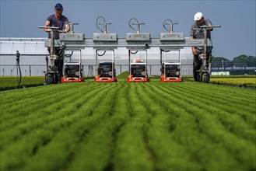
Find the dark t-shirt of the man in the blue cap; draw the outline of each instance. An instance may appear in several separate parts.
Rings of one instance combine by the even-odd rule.
[[[47,21],[50,22],[49,26],[58,27],[58,30],[64,30],[65,24],[68,23],[68,18],[65,16],[61,16],[61,18],[57,19],[55,14],[48,16]],[[55,39],[58,40],[60,37],[60,33],[55,33]],[[48,38],[51,38],[51,33],[48,34]]]

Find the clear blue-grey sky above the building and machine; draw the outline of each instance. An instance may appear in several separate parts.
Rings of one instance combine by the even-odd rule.
[[[240,54],[256,56],[255,10],[256,0],[212,0],[212,1],[68,1],[68,0],[0,0],[0,37],[47,37],[38,26],[44,26],[47,16],[54,13],[54,5],[61,3],[62,15],[67,16],[75,26],[75,33],[85,33],[92,38],[99,33],[96,18],[103,16],[108,33],[117,33],[124,38],[129,29],[128,21],[136,18],[142,33],[151,33],[158,38],[163,29],[163,21],[171,19],[178,23],[174,32],[182,32],[189,37],[189,30],[196,12],[202,12],[213,25],[221,25],[212,31],[215,57],[233,59]]]

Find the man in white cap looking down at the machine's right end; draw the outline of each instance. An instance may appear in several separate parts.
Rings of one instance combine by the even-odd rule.
[[[190,39],[203,39],[204,33],[202,30],[193,30],[198,29],[200,26],[212,26],[212,22],[209,19],[205,19],[202,12],[197,12],[194,16],[194,23],[191,26],[190,30]],[[211,31],[212,27],[209,27],[207,30],[207,38],[211,39]],[[202,66],[202,60],[199,58],[199,54],[203,53],[203,47],[192,47],[192,53],[194,54],[194,61],[193,61],[193,74],[195,81],[198,81],[198,75],[196,73],[197,70],[199,70]],[[207,47],[207,58],[206,60],[209,61],[211,58],[212,53],[212,47]],[[209,62],[207,62],[207,65],[209,65]]]

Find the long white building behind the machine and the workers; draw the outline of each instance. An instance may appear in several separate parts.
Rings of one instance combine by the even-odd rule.
[[[46,71],[45,58],[49,55],[47,47],[44,47],[45,38],[0,38],[0,75],[16,75],[16,51],[20,54],[20,68],[23,76],[44,75]],[[71,52],[67,51],[66,54]],[[153,47],[147,50],[148,54],[148,74],[160,75],[160,49]],[[107,52],[102,59],[111,58],[111,53]],[[145,58],[145,52],[139,52],[139,58]],[[177,51],[165,54],[166,61],[178,61]],[[94,75],[96,52],[93,48],[82,50],[82,65],[84,75]],[[138,57],[138,56],[137,56]],[[101,58],[101,57],[99,57]],[[128,50],[124,47],[115,50],[117,75],[128,71]],[[74,51],[72,61],[79,59],[79,53]],[[70,60],[66,58],[65,60]],[[191,47],[181,49],[181,75],[192,75],[193,55]]]

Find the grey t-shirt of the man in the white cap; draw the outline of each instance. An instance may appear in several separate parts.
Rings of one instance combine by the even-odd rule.
[[[212,22],[210,19],[205,19],[205,22],[202,24],[202,26],[212,26]],[[200,26],[195,21],[190,30],[190,36],[194,37],[194,39],[203,39],[204,33],[202,30],[193,30],[193,29],[199,29]],[[207,38],[211,39],[211,32],[207,31]],[[198,51],[199,54],[202,54],[203,47],[195,47],[195,49]],[[212,47],[207,47],[207,53],[209,54],[212,51]]]

